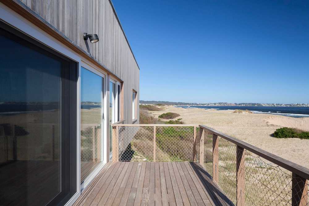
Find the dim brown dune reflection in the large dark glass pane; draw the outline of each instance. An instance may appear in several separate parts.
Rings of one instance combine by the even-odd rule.
[[[0,116],[0,163],[59,160],[59,111]]]

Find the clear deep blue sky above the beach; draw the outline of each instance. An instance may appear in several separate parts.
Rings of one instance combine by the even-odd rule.
[[[112,2],[141,100],[309,103],[308,1]]]

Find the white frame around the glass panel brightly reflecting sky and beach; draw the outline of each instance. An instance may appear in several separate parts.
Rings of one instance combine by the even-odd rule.
[[[106,155],[106,145],[107,145],[107,135],[106,135],[106,131],[107,131],[107,124],[106,124],[106,119],[105,119],[105,115],[107,112],[107,102],[106,102],[106,79],[107,79],[107,74],[99,69],[96,69],[96,67],[94,65],[91,65],[89,63],[86,63],[85,61],[81,61],[80,67],[79,67],[79,78],[81,78],[81,70],[82,67],[84,69],[87,69],[89,71],[91,71],[94,74],[97,74],[98,76],[102,77],[102,95],[101,95],[101,102],[102,102],[102,107],[101,107],[101,117],[102,117],[102,121],[101,121],[101,125],[102,125],[102,129],[101,129],[101,137],[102,137],[102,141],[101,141],[101,159],[102,162],[99,163],[99,165],[88,175],[88,177],[83,181],[83,183],[80,183],[81,181],[81,81],[79,79],[78,81],[78,88],[79,88],[79,99],[78,99],[78,104],[79,104],[79,118],[78,118],[78,184],[80,184],[80,191],[82,192],[83,189],[85,187],[87,187],[87,185],[92,181],[92,179],[99,173],[99,171],[104,167],[104,165],[107,163],[107,157]],[[104,146],[105,145],[105,146]]]

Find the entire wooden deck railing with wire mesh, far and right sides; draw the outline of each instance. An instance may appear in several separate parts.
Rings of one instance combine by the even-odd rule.
[[[197,161],[234,204],[308,205],[307,168],[210,127],[194,124],[112,126],[113,161],[132,161],[123,158],[124,155],[133,156],[132,151],[144,156],[138,161]],[[178,134],[183,128],[192,130]],[[175,134],[179,136],[181,144],[175,144]],[[128,141],[124,141],[124,138]],[[176,146],[181,148],[173,150]],[[120,153],[120,147],[131,153]],[[191,149],[189,155],[186,151],[188,148]],[[181,154],[171,154],[167,149]],[[166,158],[165,154],[170,157]]]

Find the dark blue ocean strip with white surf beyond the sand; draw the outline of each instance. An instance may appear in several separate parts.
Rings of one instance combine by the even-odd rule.
[[[309,107],[246,107],[246,106],[176,106],[182,108],[203,108],[217,110],[250,110],[253,113],[274,114],[290,117],[309,117]]]

